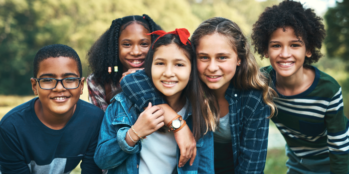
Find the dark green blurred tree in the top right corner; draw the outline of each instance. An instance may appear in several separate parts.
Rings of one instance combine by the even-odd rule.
[[[349,61],[349,0],[337,5],[325,14],[327,22],[326,50],[329,57]]]

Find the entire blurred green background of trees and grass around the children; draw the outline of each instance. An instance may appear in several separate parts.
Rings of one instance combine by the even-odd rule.
[[[250,36],[252,25],[264,8],[279,2],[280,0],[0,0],[0,95],[31,95],[0,96],[0,116],[33,97],[29,82],[33,77],[32,62],[36,52],[45,45],[60,43],[74,48],[83,63],[83,76],[87,77],[90,72],[85,59],[86,52],[116,18],[145,13],[166,31],[187,28],[192,33],[201,21],[221,16],[235,21]],[[343,0],[336,7],[330,8],[324,18],[328,36],[322,53],[326,56],[315,66],[334,77],[342,86],[345,113],[348,116],[349,0]],[[258,61],[261,66],[269,65],[268,59]],[[81,97],[87,99],[87,92],[84,95]],[[266,174],[286,173],[287,157],[284,153],[283,148],[268,150]]]

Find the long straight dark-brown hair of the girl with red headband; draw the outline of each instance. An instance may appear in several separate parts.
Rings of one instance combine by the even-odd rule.
[[[205,94],[204,87],[207,87],[203,82],[200,81],[197,73],[197,65],[195,59],[195,52],[189,44],[189,41],[184,45],[178,35],[166,34],[160,37],[148,51],[145,59],[145,71],[150,79],[152,79],[152,64],[154,53],[160,46],[166,46],[175,44],[184,53],[185,56],[190,60],[191,72],[190,79],[186,87],[181,93],[181,100],[185,102],[185,97],[188,98],[192,108],[192,133],[196,141],[207,133],[207,131],[214,131],[217,127],[216,120],[218,115],[217,109],[209,109],[218,107],[218,102],[205,102],[208,94]],[[152,49],[153,48],[153,49]],[[213,97],[213,96],[211,96]],[[213,103],[213,104],[212,104]],[[209,105],[212,104],[212,105]],[[212,112],[213,111],[213,112]]]

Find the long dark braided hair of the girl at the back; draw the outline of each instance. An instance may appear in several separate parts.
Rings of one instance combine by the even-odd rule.
[[[112,73],[109,74],[108,67],[114,69],[114,66],[118,66],[118,70],[123,69],[118,54],[119,36],[122,30],[133,23],[143,25],[149,32],[161,30],[161,27],[147,14],[143,14],[143,16],[126,16],[113,20],[110,28],[92,45],[86,55],[89,68],[94,74],[94,80],[96,80],[98,84],[102,86],[109,83],[115,86],[119,84],[123,72],[114,72],[114,70],[112,70]],[[152,41],[156,37],[157,36],[152,36]]]

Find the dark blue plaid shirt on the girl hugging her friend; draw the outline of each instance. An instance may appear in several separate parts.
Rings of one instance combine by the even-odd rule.
[[[139,112],[151,102],[166,101],[143,71],[127,75],[120,83]],[[235,174],[263,174],[267,157],[270,109],[261,90],[239,90],[229,85],[225,99],[229,103],[229,124]]]

